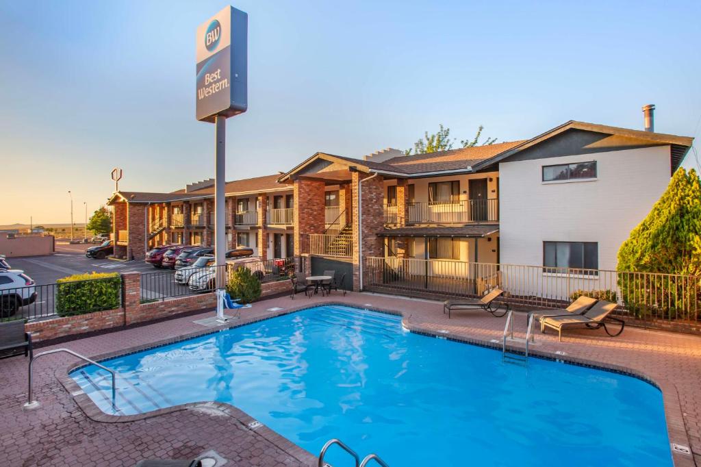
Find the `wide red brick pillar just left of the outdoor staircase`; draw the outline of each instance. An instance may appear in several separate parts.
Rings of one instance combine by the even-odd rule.
[[[294,255],[302,252],[305,234],[323,234],[325,230],[325,183],[319,180],[294,180]]]

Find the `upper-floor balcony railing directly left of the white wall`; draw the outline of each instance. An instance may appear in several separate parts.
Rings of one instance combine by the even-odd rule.
[[[396,205],[385,205],[384,212],[386,224],[398,223],[400,213]],[[470,199],[449,203],[409,203],[406,224],[469,224],[498,220],[498,199]]]

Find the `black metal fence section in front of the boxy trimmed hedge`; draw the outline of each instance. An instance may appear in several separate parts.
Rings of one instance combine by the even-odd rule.
[[[27,285],[0,290],[0,321],[73,316],[119,308],[122,280],[109,278]]]

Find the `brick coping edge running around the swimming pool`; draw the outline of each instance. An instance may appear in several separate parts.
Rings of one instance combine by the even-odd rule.
[[[138,346],[132,346],[129,348],[123,348],[118,351],[111,351],[107,353],[101,353],[96,356],[88,356],[95,360],[96,362],[101,362],[103,360],[109,360],[111,358],[116,358],[119,356],[126,356],[132,353],[137,353],[145,350],[150,350],[151,348],[158,348],[167,346],[170,344],[175,344],[177,342],[186,341],[189,339],[195,339],[197,337],[202,337],[209,334],[216,334],[217,332],[223,332],[236,327],[241,327],[245,325],[250,325],[253,323],[259,323],[261,321],[269,320],[272,318],[278,318],[279,316],[285,316],[291,313],[297,313],[299,311],[304,311],[307,309],[316,308],[318,306],[348,306],[350,308],[362,309],[367,311],[375,311],[378,313],[386,313],[393,316],[400,316],[402,318],[402,327],[409,330],[409,332],[414,332],[416,334],[421,334],[427,337],[434,337],[437,339],[446,339],[451,341],[456,341],[462,344],[470,344],[481,346],[485,348],[491,348],[496,350],[501,350],[501,343],[485,341],[482,339],[475,339],[473,337],[465,337],[459,334],[453,334],[451,332],[436,332],[428,327],[421,327],[418,325],[412,325],[410,323],[411,316],[404,316],[402,311],[383,309],[376,306],[363,306],[360,308],[354,304],[346,304],[343,302],[329,301],[329,302],[315,302],[313,304],[305,304],[297,307],[292,307],[289,309],[283,309],[278,311],[271,311],[262,316],[257,316],[255,318],[238,318],[236,320],[231,320],[228,323],[224,323],[221,326],[215,328],[205,328],[203,330],[188,332],[186,334],[180,334],[176,337],[169,337],[167,339],[161,339],[149,344],[141,344]],[[510,351],[516,350],[517,353],[520,351],[523,353],[522,346],[510,345]],[[622,367],[620,365],[613,365],[611,363],[597,362],[594,360],[587,360],[585,358],[578,358],[573,356],[562,356],[557,353],[551,353],[547,351],[540,351],[537,348],[534,349],[529,347],[529,356],[536,358],[541,358],[544,360],[551,360],[559,363],[567,363],[571,365],[590,367],[597,370],[604,370],[608,372],[615,372],[619,374],[625,374],[629,377],[634,377],[641,379],[642,381],[655,386],[662,393],[662,403],[665,410],[665,421],[667,423],[667,437],[670,443],[670,452],[672,452],[672,462],[676,467],[695,467],[695,461],[692,454],[682,454],[676,452],[672,447],[674,445],[682,445],[688,447],[690,445],[688,434],[686,433],[686,427],[684,426],[683,412],[681,410],[681,402],[679,401],[679,392],[677,391],[676,385],[666,378],[655,377],[655,375],[647,374],[646,372],[637,370],[635,368]],[[76,405],[86,414],[86,416],[97,422],[101,423],[130,423],[132,421],[138,421],[143,419],[149,419],[153,417],[159,417],[164,414],[170,414],[172,412],[180,412],[182,410],[199,410],[199,411],[210,411],[212,413],[218,413],[226,415],[236,419],[238,423],[242,424],[244,428],[255,431],[262,438],[268,440],[268,442],[273,443],[278,448],[282,449],[287,454],[294,456],[297,460],[308,463],[309,465],[316,465],[318,458],[306,449],[299,447],[294,444],[294,442],[288,440],[283,435],[273,431],[268,426],[261,425],[257,428],[250,428],[248,424],[252,421],[257,421],[249,414],[240,410],[238,407],[227,404],[226,402],[215,402],[215,401],[203,401],[203,402],[189,402],[187,404],[173,405],[172,407],[165,407],[163,409],[152,410],[150,412],[144,412],[142,414],[134,415],[111,415],[102,412],[100,407],[97,407],[95,402],[83,392],[82,388],[78,386],[76,381],[70,377],[70,373],[74,370],[78,370],[81,367],[89,366],[89,363],[76,362],[67,367],[60,367],[56,370],[55,376],[60,381],[62,386],[68,391],[69,395],[72,396]]]

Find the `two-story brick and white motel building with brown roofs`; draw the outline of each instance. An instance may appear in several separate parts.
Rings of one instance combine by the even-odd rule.
[[[227,238],[265,259],[306,255],[314,272],[345,272],[354,290],[371,257],[421,259],[435,276],[467,263],[615,269],[692,142],[569,121],[529,140],[432,154],[318,152],[283,175],[227,183]],[[116,192],[116,255],[211,245],[212,183]]]

